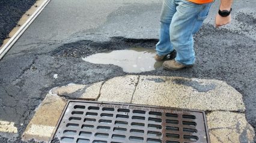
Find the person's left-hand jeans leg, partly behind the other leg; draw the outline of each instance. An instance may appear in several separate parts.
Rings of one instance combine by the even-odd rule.
[[[164,0],[160,16],[160,35],[159,42],[156,44],[156,53],[158,56],[165,56],[173,51],[169,36],[169,26],[172,16],[176,12],[175,0]]]

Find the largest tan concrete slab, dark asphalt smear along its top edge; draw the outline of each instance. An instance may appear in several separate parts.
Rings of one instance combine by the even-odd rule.
[[[198,78],[142,75],[132,103],[204,111],[245,111],[242,95],[233,87],[224,81]]]

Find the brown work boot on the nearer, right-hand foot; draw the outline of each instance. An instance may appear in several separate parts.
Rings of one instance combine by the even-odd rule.
[[[176,62],[175,60],[166,60],[165,62],[163,62],[163,68],[167,70],[178,70],[190,66],[193,65],[183,65],[181,63]]]

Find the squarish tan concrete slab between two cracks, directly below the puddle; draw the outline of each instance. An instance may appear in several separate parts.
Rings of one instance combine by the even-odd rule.
[[[106,81],[102,86],[98,101],[130,103],[138,78],[138,75],[127,75]]]

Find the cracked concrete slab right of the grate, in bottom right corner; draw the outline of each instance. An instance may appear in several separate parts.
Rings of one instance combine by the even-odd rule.
[[[245,114],[214,111],[207,114],[211,142],[254,142],[254,129]]]

